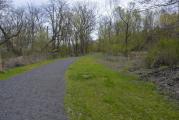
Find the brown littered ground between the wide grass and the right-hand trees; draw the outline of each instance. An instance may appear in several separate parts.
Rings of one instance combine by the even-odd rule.
[[[145,53],[133,53],[128,58],[98,54],[99,61],[117,71],[125,71],[137,75],[141,80],[151,81],[157,85],[158,91],[179,101],[179,67],[146,68]]]

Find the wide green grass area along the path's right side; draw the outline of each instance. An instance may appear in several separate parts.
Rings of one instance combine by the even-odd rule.
[[[179,120],[179,108],[152,83],[83,57],[66,73],[70,120]]]

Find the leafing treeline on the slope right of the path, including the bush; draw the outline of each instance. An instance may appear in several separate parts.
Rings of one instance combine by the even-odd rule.
[[[111,15],[100,20],[97,51],[125,56],[132,51],[147,51],[148,67],[177,65],[178,5],[178,0],[140,0],[129,3],[127,8],[114,7]]]

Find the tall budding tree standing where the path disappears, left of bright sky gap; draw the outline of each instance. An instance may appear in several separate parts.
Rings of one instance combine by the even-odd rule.
[[[74,8],[73,26],[75,31],[76,45],[80,45],[80,53],[88,52],[90,34],[95,26],[95,13],[86,4],[77,4]]]

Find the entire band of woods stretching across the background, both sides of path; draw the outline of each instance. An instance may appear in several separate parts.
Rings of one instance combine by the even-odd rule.
[[[44,59],[103,52],[127,57],[131,52],[145,52],[148,67],[176,66],[179,1],[135,0],[127,8],[117,2],[109,0],[109,14],[98,15],[85,2],[50,0],[43,6],[13,7],[11,1],[0,0],[2,65],[21,56]]]

